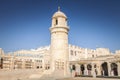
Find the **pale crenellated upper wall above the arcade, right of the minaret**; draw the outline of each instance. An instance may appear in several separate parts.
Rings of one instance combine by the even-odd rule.
[[[81,59],[96,58],[99,56],[107,55],[112,55],[112,53],[107,48],[96,48],[96,50],[94,50],[88,48],[81,48],[75,45],[69,45],[70,61],[78,61]]]

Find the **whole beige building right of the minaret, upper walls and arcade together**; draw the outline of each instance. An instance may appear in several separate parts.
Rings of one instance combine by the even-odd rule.
[[[70,69],[74,76],[120,76],[120,53],[109,49],[96,50],[72,46],[69,52]]]

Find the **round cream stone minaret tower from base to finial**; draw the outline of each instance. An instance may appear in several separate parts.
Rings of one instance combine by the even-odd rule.
[[[60,11],[54,13],[52,16],[51,32],[51,70],[55,77],[65,77],[68,73],[68,31],[67,17]]]

